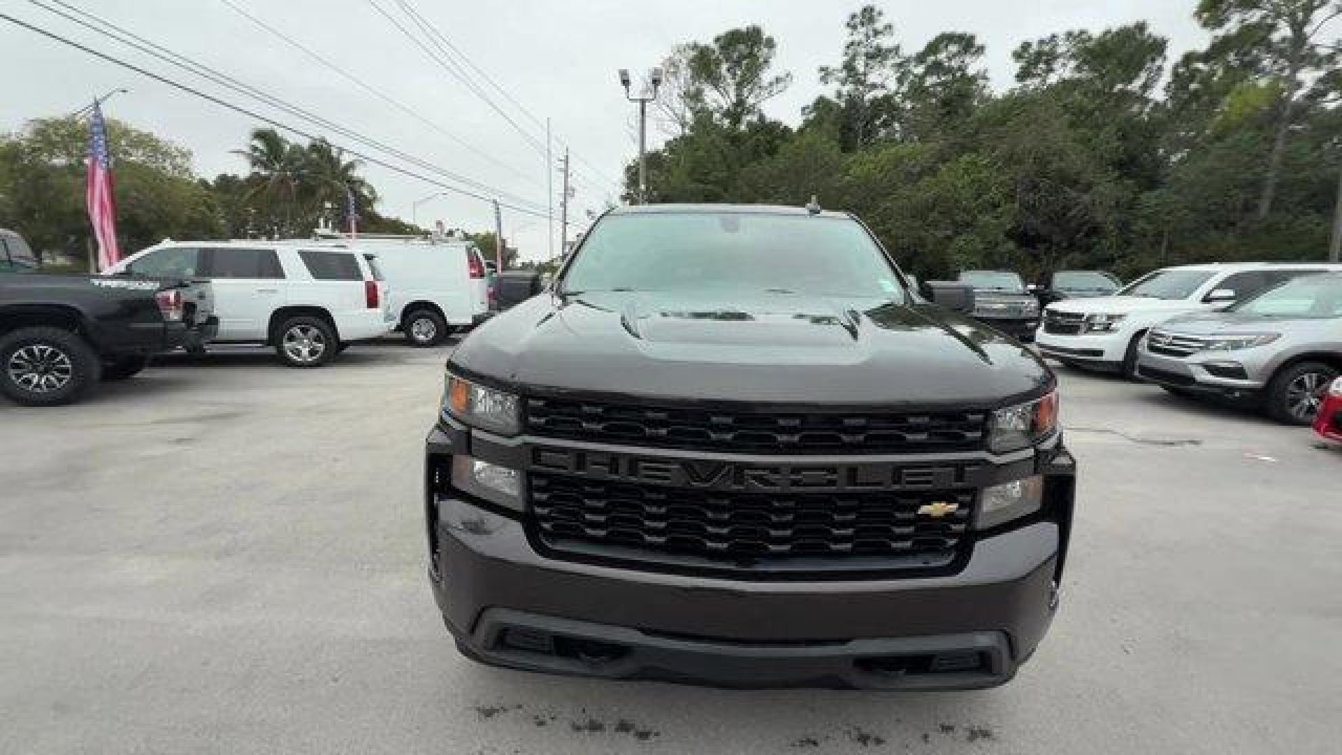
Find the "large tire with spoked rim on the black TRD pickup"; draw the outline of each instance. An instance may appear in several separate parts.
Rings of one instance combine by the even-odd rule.
[[[0,339],[0,392],[15,403],[74,403],[99,379],[102,363],[76,333],[59,328],[20,328]]]

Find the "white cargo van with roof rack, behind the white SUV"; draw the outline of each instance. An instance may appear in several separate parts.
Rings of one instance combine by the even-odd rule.
[[[488,317],[488,271],[484,258],[467,239],[360,234],[357,239],[325,234],[317,243],[330,249],[358,247],[377,255],[392,289],[397,329],[415,347],[435,347],[454,329]]]

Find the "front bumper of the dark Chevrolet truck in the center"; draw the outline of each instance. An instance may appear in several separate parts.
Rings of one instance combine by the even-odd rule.
[[[980,536],[954,574],[765,580],[542,555],[522,521],[433,478],[468,442],[428,439],[429,576],[448,629],[488,664],[721,686],[994,686],[1057,605],[1074,476],[1062,449],[1039,462],[1053,513]]]

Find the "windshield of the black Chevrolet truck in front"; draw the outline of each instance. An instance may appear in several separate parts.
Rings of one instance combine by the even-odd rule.
[[[560,290],[903,297],[860,223],[768,212],[608,215],[582,242]]]

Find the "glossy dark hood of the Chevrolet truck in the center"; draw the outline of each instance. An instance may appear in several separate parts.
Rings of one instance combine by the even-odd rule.
[[[930,304],[790,294],[539,296],[467,336],[450,365],[518,392],[656,400],[1000,406],[1052,373]]]

